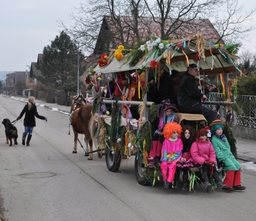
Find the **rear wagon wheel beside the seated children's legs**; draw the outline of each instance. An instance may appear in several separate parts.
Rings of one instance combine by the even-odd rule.
[[[140,185],[147,186],[150,184],[150,182],[146,180],[144,176],[147,169],[145,168],[143,159],[144,157],[142,153],[137,153],[137,155],[135,156],[135,162],[134,162],[135,175]]]

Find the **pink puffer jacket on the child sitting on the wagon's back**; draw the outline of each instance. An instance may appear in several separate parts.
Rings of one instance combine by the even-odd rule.
[[[205,161],[216,163],[215,151],[210,141],[196,140],[190,148],[190,153],[194,164],[203,165]]]

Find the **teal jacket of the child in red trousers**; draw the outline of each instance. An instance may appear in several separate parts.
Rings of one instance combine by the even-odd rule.
[[[224,160],[224,171],[238,171],[241,168],[241,164],[235,160],[235,157],[230,151],[230,144],[228,140],[223,142],[221,139],[214,135],[212,137],[212,146],[218,160]]]

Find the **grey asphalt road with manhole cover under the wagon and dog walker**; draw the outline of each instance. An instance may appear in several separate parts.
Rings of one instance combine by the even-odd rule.
[[[1,119],[15,120],[26,103],[0,96]],[[104,160],[84,157],[73,134],[68,135],[68,115],[37,107],[30,146],[21,145],[23,119],[15,124],[17,146],[5,144],[0,126],[0,193],[9,221],[35,220],[255,220],[256,172],[242,169],[246,191],[206,193],[165,190],[163,183],[140,186],[134,174],[134,157],[122,160],[116,173]],[[51,177],[40,177],[45,173]],[[25,175],[32,173],[31,176]],[[39,175],[39,177],[36,177]]]

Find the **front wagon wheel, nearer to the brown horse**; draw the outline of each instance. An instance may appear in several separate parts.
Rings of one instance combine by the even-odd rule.
[[[107,169],[111,172],[118,171],[121,164],[121,151],[119,148],[116,148],[116,153],[109,148],[106,148],[105,159],[107,164]]]

